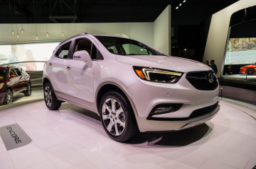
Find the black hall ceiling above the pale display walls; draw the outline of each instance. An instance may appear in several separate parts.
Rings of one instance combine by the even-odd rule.
[[[238,0],[0,0],[0,23],[153,22],[171,4],[175,20],[191,24],[191,17],[192,22],[201,21],[203,17],[236,1]]]

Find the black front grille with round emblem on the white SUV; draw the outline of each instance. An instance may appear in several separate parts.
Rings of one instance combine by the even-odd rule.
[[[186,79],[194,88],[201,91],[214,91],[218,88],[218,79],[213,71],[188,72]]]

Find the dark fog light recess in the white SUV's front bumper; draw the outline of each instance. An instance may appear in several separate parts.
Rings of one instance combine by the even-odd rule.
[[[172,104],[161,104],[161,105],[156,105],[153,110],[149,113],[149,117],[153,115],[161,115],[164,113],[169,113],[169,112],[176,112],[182,107],[182,103],[172,103]]]

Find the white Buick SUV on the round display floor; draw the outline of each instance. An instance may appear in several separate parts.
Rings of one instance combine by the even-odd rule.
[[[209,66],[136,40],[87,33],[55,48],[43,89],[50,110],[64,101],[96,112],[116,141],[193,127],[220,108],[218,79]]]

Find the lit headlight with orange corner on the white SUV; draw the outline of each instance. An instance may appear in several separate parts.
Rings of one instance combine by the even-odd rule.
[[[133,66],[133,68],[139,78],[142,78],[145,81],[153,81],[159,83],[176,83],[183,74],[177,71],[169,71],[164,69],[155,69],[141,66]]]

